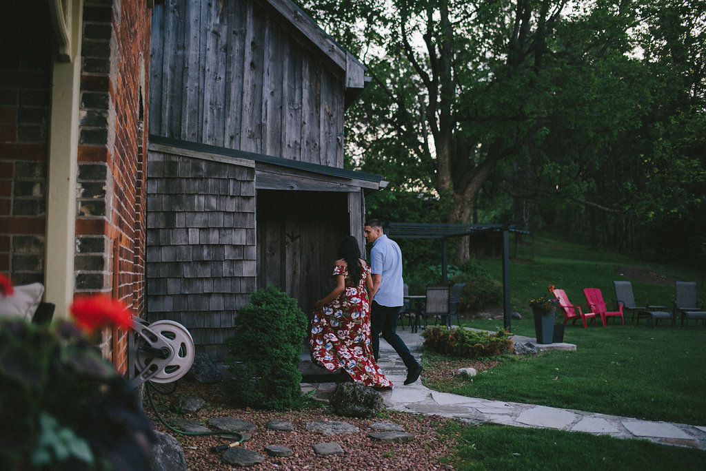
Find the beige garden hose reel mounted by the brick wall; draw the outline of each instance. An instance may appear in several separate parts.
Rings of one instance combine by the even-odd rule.
[[[135,331],[133,386],[145,381],[171,383],[189,372],[196,352],[186,327],[169,320],[150,324],[133,316],[132,328]]]

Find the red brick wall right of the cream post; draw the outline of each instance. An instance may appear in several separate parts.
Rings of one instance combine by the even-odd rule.
[[[86,1],[80,86],[76,290],[112,293],[144,317],[151,11],[143,0]],[[125,332],[104,345],[127,369]]]

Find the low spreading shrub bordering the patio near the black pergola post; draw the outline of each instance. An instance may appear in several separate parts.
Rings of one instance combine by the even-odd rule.
[[[514,350],[510,333],[505,329],[493,333],[433,326],[428,327],[422,335],[425,348],[455,357],[471,359],[492,357]]]

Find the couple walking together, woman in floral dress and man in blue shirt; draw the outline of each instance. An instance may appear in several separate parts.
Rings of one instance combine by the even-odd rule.
[[[402,252],[383,233],[377,219],[366,221],[365,238],[373,244],[370,266],[360,258],[358,241],[342,238],[333,267],[336,286],[316,302],[309,332],[311,358],[344,380],[378,389],[393,387],[377,365],[380,335],[407,367],[405,384],[419,379],[421,365],[395,332],[402,307]],[[370,302],[372,300],[372,302]]]

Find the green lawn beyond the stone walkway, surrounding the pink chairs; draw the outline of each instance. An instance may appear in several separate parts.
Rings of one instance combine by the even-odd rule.
[[[616,267],[638,267],[675,279],[697,281],[697,293],[704,298],[701,276],[695,269],[650,264],[610,252],[588,250],[537,238],[532,259],[510,262],[510,293],[513,311],[523,319],[513,319],[510,330],[534,338],[530,298],[546,293],[546,286],[563,288],[575,304],[585,303],[582,288],[601,288],[604,299],[614,298],[614,280],[625,280]],[[490,271],[501,269],[498,259],[481,259]],[[633,283],[635,298],[649,298],[653,304],[669,305],[674,286]],[[502,319],[471,319],[465,326],[496,331]],[[652,328],[643,319],[640,325],[626,317],[609,319],[606,327],[580,322],[567,324],[564,341],[577,345],[575,352],[549,351],[516,362],[502,362],[473,381],[453,387],[465,396],[512,400],[622,415],[647,420],[666,420],[706,425],[706,328],[692,324],[689,329],[661,322]]]

